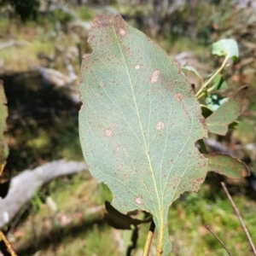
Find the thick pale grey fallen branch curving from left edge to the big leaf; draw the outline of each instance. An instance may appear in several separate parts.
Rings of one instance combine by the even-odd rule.
[[[20,208],[32,199],[38,188],[56,177],[87,170],[84,162],[55,160],[33,170],[21,172],[10,182],[8,195],[0,198],[0,229],[9,224]]]

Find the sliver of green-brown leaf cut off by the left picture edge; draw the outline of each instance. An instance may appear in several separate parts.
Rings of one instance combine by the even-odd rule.
[[[3,81],[0,80],[0,176],[2,175],[6,158],[9,154],[9,150],[3,139],[3,131],[6,130],[6,118],[8,116],[6,103],[7,101],[3,90]]]

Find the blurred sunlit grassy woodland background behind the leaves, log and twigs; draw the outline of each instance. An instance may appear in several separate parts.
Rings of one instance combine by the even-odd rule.
[[[236,130],[213,138],[246,159],[256,174],[255,1],[0,0],[0,10],[0,79],[8,99],[5,137],[10,150],[2,183],[52,160],[83,160],[79,68],[91,52],[91,21],[101,13],[122,15],[180,65],[195,67],[204,78],[221,63],[211,56],[211,44],[220,38],[236,39],[241,56],[224,73],[228,94],[241,85],[250,89]],[[197,86],[196,77],[188,74],[188,79]],[[227,183],[256,242],[255,188],[247,180]],[[128,255],[132,230],[114,230],[102,221],[105,200],[112,200],[108,188],[88,172],[61,177],[38,190],[4,230],[20,256]],[[230,203],[211,175],[199,193],[181,196],[169,215],[172,255],[227,255],[205,224],[234,255],[251,255]],[[148,224],[139,227],[131,255],[142,255],[147,230]],[[152,255],[154,250],[155,244]]]

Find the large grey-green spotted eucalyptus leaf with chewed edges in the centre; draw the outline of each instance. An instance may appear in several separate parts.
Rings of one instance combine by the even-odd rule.
[[[177,62],[121,16],[96,16],[89,43],[80,82],[84,158],[113,192],[113,207],[151,212],[157,255],[168,255],[168,209],[207,174],[195,148],[207,137],[200,105]]]

